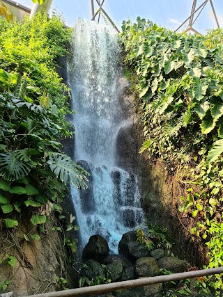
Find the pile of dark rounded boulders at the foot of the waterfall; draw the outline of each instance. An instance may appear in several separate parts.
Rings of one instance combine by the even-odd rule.
[[[107,241],[100,235],[93,235],[83,250],[84,268],[81,275],[89,280],[96,276],[101,280],[118,282],[137,278],[152,277],[160,274],[160,268],[171,273],[187,271],[190,264],[185,260],[169,255],[162,248],[148,250],[137,241],[137,232],[123,234],[118,244],[119,255],[109,254]],[[152,284],[141,288],[125,289],[104,297],[162,297],[162,284]]]

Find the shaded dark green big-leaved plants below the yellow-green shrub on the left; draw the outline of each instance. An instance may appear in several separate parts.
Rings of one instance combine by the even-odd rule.
[[[20,212],[22,207],[37,208],[50,201],[58,210],[55,203],[60,199],[56,195],[63,195],[63,186],[57,182],[57,190],[49,188],[46,176],[51,181],[59,177],[64,184],[70,179],[73,185],[86,188],[87,175],[61,151],[59,140],[64,128],[56,124],[56,114],[24,101],[26,80],[20,75],[14,94],[17,97],[11,93],[0,96],[0,204],[10,227],[15,226],[16,220],[8,221],[9,214]],[[31,223],[45,223],[46,216],[43,211],[32,214]]]

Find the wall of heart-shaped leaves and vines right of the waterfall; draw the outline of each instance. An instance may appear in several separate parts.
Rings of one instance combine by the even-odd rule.
[[[162,159],[169,172],[178,173],[187,187],[187,195],[179,197],[179,211],[194,218],[192,239],[199,237],[208,246],[209,268],[222,266],[223,62],[222,50],[215,48],[219,34],[178,34],[138,18],[137,24],[123,22],[122,38],[144,127],[140,152]],[[208,278],[201,287],[203,294],[221,291],[222,278]]]

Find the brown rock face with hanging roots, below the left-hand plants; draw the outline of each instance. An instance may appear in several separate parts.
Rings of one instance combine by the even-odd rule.
[[[7,259],[11,255],[16,259],[15,266],[7,263],[0,270],[0,280],[2,283],[10,280],[7,291],[13,291],[13,296],[59,290],[57,278],[66,278],[69,282],[66,250],[53,227],[53,223],[45,224],[45,234],[40,235],[41,240],[26,241],[24,234],[29,237],[38,232],[33,230],[33,226],[24,224],[20,229],[1,234],[0,258]]]

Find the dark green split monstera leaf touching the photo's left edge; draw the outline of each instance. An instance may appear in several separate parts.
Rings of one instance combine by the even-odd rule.
[[[6,180],[16,180],[29,174],[35,164],[27,150],[10,150],[0,154],[0,176]]]

